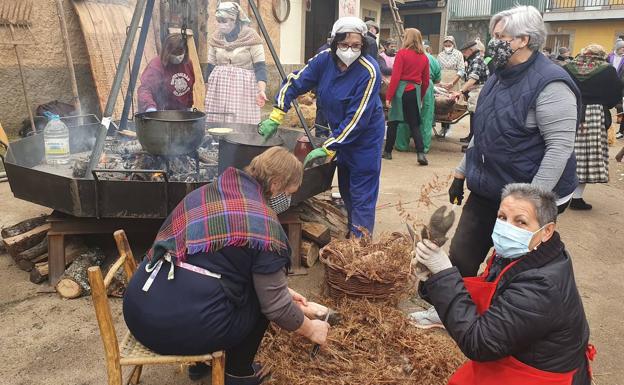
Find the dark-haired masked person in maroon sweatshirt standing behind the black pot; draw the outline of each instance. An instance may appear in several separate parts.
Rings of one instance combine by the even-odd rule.
[[[137,91],[139,112],[193,107],[195,73],[186,44],[179,33],[167,36],[160,56],[145,67]]]

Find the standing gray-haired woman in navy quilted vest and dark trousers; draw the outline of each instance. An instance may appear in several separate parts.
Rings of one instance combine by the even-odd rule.
[[[450,248],[464,277],[477,274],[492,247],[505,185],[531,183],[553,191],[563,210],[578,184],[574,138],[580,94],[570,75],[541,54],[542,15],[517,6],[496,14],[490,32],[488,49],[497,69],[481,90],[474,136],[449,189],[456,204],[462,203],[465,182],[470,190]],[[422,327],[441,326],[435,309],[412,318]]]

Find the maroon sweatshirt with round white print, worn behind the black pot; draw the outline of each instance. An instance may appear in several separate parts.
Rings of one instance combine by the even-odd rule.
[[[157,110],[185,110],[193,107],[195,74],[190,60],[164,67],[160,57],[149,62],[141,74],[137,92],[139,112],[148,108]]]

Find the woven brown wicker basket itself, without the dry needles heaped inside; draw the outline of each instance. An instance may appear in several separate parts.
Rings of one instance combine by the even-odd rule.
[[[407,282],[373,281],[361,275],[347,275],[329,260],[330,249],[322,248],[319,260],[325,266],[325,282],[329,296],[338,299],[344,296],[367,298],[369,300],[387,300],[406,289]]]

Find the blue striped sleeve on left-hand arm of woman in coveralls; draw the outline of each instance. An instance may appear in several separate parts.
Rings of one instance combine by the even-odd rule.
[[[275,96],[275,106],[280,110],[287,112],[290,109],[290,103],[318,84],[319,73],[323,62],[330,55],[330,50],[319,52],[316,56],[308,61],[308,63],[299,71],[295,71],[288,75],[282,82],[282,87]]]

